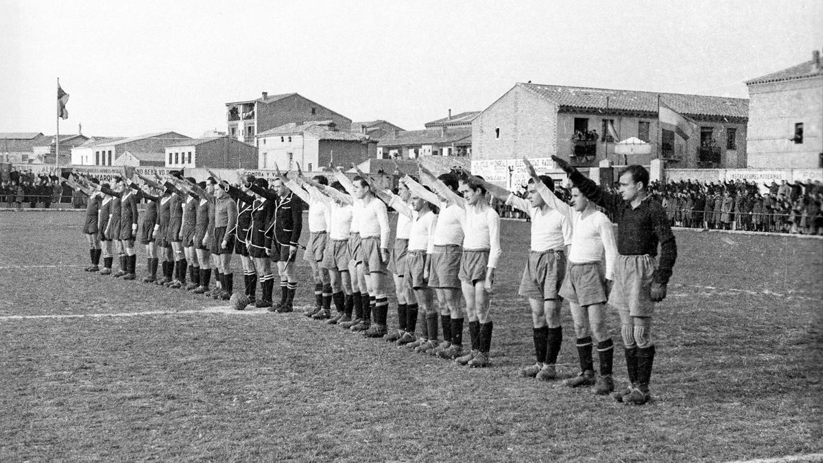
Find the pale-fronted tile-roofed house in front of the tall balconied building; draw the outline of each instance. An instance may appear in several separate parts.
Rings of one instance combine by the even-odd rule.
[[[351,126],[351,121],[344,127]],[[337,129],[332,120],[284,124],[259,133],[259,169],[291,169],[292,162],[304,171],[320,171],[333,161],[336,166],[359,164],[377,154],[377,142],[363,133]]]

